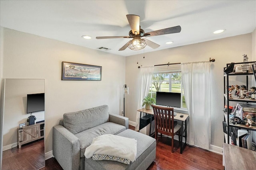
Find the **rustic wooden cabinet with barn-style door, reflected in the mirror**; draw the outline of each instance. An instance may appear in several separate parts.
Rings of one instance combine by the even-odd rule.
[[[44,138],[44,122],[18,128],[18,148],[42,138]]]

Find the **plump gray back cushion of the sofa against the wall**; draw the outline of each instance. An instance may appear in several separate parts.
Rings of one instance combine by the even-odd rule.
[[[71,133],[76,134],[92,127],[96,127],[109,120],[108,106],[98,106],[86,110],[64,113],[64,127]]]

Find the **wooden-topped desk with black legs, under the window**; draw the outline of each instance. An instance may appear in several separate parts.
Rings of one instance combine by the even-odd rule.
[[[153,109],[148,110],[148,109],[142,108],[142,109],[138,109],[137,111],[140,111],[140,118],[141,118],[141,113],[142,112],[152,115],[150,117],[150,130],[149,130],[149,135],[151,135],[151,122],[152,122],[152,117],[154,117]],[[184,115],[184,116],[180,117],[180,115]],[[183,114],[183,113],[177,113],[176,116],[174,116],[175,120],[181,121],[180,131],[182,132],[182,137],[185,137],[185,143],[181,142],[181,144],[180,144],[180,153],[181,154],[182,154],[182,151],[184,150],[184,148],[187,145],[187,120],[188,120],[188,117],[189,117],[188,114]],[[184,122],[185,122],[185,128],[183,129]],[[140,131],[140,129],[139,129],[139,131]],[[184,133],[185,133],[185,135],[184,135]]]

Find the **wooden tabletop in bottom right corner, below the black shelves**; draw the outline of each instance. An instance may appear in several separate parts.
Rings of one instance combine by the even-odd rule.
[[[255,170],[256,151],[223,143],[225,170]]]

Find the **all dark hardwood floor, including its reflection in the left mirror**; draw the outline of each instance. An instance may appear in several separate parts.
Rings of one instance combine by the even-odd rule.
[[[129,125],[129,129],[134,130],[134,127]],[[224,170],[224,166],[222,166],[222,155],[188,145],[182,154],[180,154],[178,141],[174,142],[174,153],[172,153],[170,143],[171,140],[168,137],[158,138],[156,159],[148,167],[148,170]],[[42,147],[37,148],[36,144],[38,144],[38,142],[27,145],[27,148],[29,146],[30,149],[26,149],[26,146],[22,147],[22,150],[26,150],[24,153],[22,153],[21,149],[19,150],[17,148],[9,149],[7,150],[8,152],[3,153],[2,170],[37,169],[32,167],[31,164],[29,164],[29,166],[22,166],[22,163],[19,162],[19,160],[24,161],[24,159],[31,161],[29,159],[35,157],[36,159],[31,161],[33,166],[38,166],[42,163],[42,158],[36,157],[35,154],[32,153],[34,150],[39,151],[42,149]],[[33,147],[31,145],[33,145]],[[32,152],[29,152],[29,150],[32,150]],[[4,165],[9,166],[3,168]],[[10,165],[12,167],[10,167]],[[45,167],[42,168],[42,170],[62,170],[62,167],[55,158],[50,158],[45,161]]]

